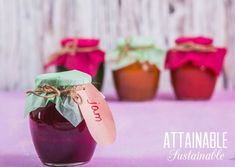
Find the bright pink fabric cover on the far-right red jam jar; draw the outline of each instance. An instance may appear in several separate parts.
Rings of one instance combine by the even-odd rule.
[[[219,75],[222,67],[226,48],[214,47],[213,40],[205,37],[182,37],[175,40],[176,47],[167,52],[165,67],[167,69],[177,69],[187,63],[195,66],[203,66],[211,69],[216,75]],[[180,46],[189,44],[194,48],[180,50]],[[187,47],[187,46],[186,46]]]

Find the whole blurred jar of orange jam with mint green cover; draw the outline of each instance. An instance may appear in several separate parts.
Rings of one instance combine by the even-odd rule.
[[[120,39],[110,53],[114,84],[120,100],[143,101],[154,98],[164,52],[151,39]]]

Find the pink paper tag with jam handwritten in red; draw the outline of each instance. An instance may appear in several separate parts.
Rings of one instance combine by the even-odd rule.
[[[78,93],[82,98],[79,107],[91,136],[97,144],[113,143],[116,127],[104,96],[92,84],[82,85]]]

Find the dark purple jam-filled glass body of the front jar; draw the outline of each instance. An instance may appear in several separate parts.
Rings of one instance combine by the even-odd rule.
[[[46,165],[83,164],[96,147],[85,121],[74,127],[54,103],[30,113],[30,130],[38,156]]]

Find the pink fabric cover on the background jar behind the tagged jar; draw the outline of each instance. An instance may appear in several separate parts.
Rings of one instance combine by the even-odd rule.
[[[98,48],[98,39],[65,38],[61,41],[62,49],[52,55],[44,68],[63,66],[68,70],[80,70],[94,77],[102,62],[105,52]]]

